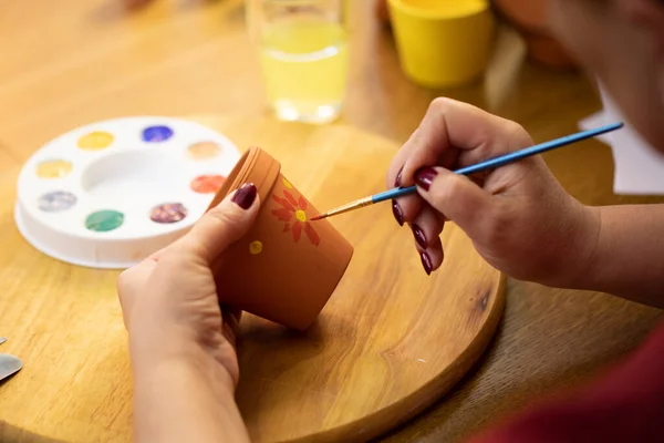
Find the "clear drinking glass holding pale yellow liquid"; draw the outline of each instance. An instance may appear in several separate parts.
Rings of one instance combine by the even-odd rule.
[[[280,120],[328,123],[347,82],[344,0],[247,0],[268,101]]]

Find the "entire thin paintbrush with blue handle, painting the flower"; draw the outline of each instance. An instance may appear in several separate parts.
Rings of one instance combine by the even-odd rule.
[[[591,137],[594,137],[600,134],[605,134],[608,132],[619,130],[619,128],[623,127],[623,125],[624,125],[624,123],[618,122],[618,123],[609,124],[609,125],[601,126],[601,127],[598,127],[594,130],[582,131],[582,132],[579,132],[579,133],[572,134],[572,135],[566,135],[564,137],[560,137],[557,140],[552,140],[550,142],[541,143],[539,145],[526,147],[523,150],[516,151],[516,152],[512,152],[512,153],[509,153],[506,155],[501,155],[499,157],[495,157],[491,159],[487,159],[485,162],[480,162],[480,163],[471,165],[471,166],[461,167],[459,169],[454,171],[454,173],[460,174],[460,175],[469,175],[469,174],[479,173],[479,172],[483,172],[483,171],[486,171],[489,168],[496,168],[499,166],[504,166],[504,165],[507,165],[510,163],[518,162],[522,158],[530,157],[532,155],[541,154],[547,151],[552,151],[558,147],[567,146],[572,143],[577,143],[582,140],[585,140],[585,138],[591,138]],[[347,212],[351,212],[354,209],[374,205],[380,202],[391,200],[394,198],[402,197],[404,195],[414,194],[416,192],[417,192],[417,186],[396,187],[396,188],[385,190],[380,194],[375,194],[375,195],[372,195],[369,197],[361,198],[355,202],[351,202],[343,206],[339,206],[338,208],[334,208],[332,210],[329,210],[326,213],[323,213],[315,217],[312,217],[311,220],[320,220],[323,218],[332,217],[333,215],[347,213]]]

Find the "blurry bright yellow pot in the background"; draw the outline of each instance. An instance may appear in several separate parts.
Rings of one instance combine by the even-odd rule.
[[[427,87],[470,83],[487,68],[495,19],[488,0],[388,0],[400,62]]]

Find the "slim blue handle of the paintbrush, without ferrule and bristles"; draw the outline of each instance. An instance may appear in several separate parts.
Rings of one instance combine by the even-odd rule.
[[[613,123],[613,124],[610,124],[606,126],[601,126],[601,127],[598,127],[594,130],[583,131],[583,132],[579,132],[579,133],[572,134],[572,135],[566,135],[564,137],[560,137],[557,140],[552,140],[550,142],[541,143],[539,145],[530,146],[525,150],[516,151],[513,153],[509,153],[509,154],[506,154],[506,155],[502,155],[502,156],[499,156],[496,158],[487,159],[487,161],[478,163],[476,165],[461,167],[459,169],[456,169],[454,173],[460,174],[460,175],[469,175],[469,174],[478,173],[478,172],[481,172],[485,169],[504,166],[509,163],[515,163],[522,158],[530,157],[532,155],[537,155],[537,154],[544,153],[547,151],[556,150],[557,147],[567,146],[569,144],[580,142],[585,138],[591,138],[591,137],[594,137],[600,134],[604,134],[604,133],[608,133],[611,131],[619,130],[619,128],[623,127],[623,125],[624,124],[622,122],[619,122],[619,123]],[[384,193],[376,194],[376,195],[372,196],[371,199],[373,203],[384,202],[384,200],[397,198],[397,197],[401,197],[404,195],[413,194],[416,192],[416,189],[417,189],[416,186],[396,187],[394,189],[390,189],[390,190],[385,190]]]

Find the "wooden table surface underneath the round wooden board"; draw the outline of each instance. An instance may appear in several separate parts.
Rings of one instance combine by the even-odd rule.
[[[429,91],[409,83],[371,2],[351,4],[352,65],[343,123],[402,143],[437,95],[488,105],[480,84]],[[156,0],[133,12],[122,0],[3,2],[0,42],[4,197],[14,197],[18,173],[32,152],[84,123],[132,114],[264,112],[241,0]],[[492,111],[518,121],[541,142],[575,131],[581,117],[599,109],[583,75],[526,64],[515,91]],[[664,200],[613,195],[611,152],[599,142],[546,159],[583,203]],[[0,266],[11,254],[0,250]],[[11,302],[0,293],[0,309]],[[486,358],[437,405],[383,440],[455,441],[477,432],[536,395],[592,378],[637,346],[660,316],[608,295],[509,280],[505,318]]]

